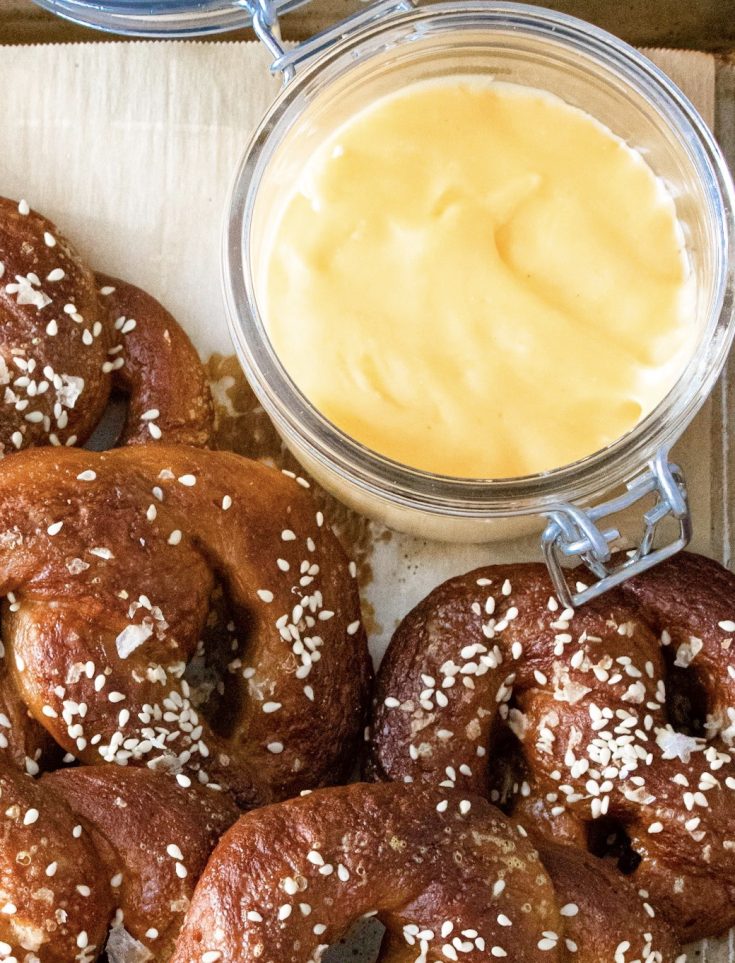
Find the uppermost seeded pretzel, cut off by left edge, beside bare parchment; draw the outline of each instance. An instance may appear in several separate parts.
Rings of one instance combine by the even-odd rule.
[[[0,198],[0,455],[83,444],[113,385],[124,441],[207,444],[212,404],[191,342],[150,295],[95,276],[56,226]]]

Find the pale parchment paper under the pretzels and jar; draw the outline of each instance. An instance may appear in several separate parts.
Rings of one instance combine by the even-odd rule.
[[[712,123],[715,63],[653,51]],[[220,285],[225,200],[239,157],[277,91],[253,44],[140,43],[0,47],[0,193],[59,222],[96,268],[159,297],[205,358],[232,352]],[[222,431],[253,455],[279,457],[232,361],[211,362]],[[694,547],[729,561],[723,385],[676,456],[686,470]],[[438,546],[337,511],[360,559],[376,659],[434,585],[474,565],[536,557],[513,545]],[[727,942],[727,941],[725,941]],[[690,960],[734,960],[725,944]]]

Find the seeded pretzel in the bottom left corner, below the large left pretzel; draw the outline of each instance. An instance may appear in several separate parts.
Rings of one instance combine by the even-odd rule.
[[[142,769],[34,781],[0,764],[0,959],[164,963],[195,883],[237,809]]]

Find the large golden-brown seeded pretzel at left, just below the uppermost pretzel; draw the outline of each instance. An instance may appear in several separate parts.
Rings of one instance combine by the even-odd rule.
[[[244,806],[339,780],[370,679],[353,573],[300,480],[238,455],[136,445],[7,459],[7,752],[26,763],[42,727],[87,764],[186,772]],[[210,721],[185,670],[218,583],[226,679]]]

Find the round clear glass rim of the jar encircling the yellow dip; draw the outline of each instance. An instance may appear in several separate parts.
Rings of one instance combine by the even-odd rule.
[[[273,349],[255,299],[248,225],[267,163],[270,133],[294,96],[328,66],[359,63],[355,48],[366,39],[397,36],[421,25],[424,31],[476,27],[545,40],[553,47],[584,52],[629,89],[653,102],[668,126],[686,143],[719,230],[715,290],[705,332],[677,382],[631,431],[579,461],[537,475],[484,479],[437,475],[393,461],[362,445],[321,414],[291,380]],[[424,33],[424,36],[426,33]],[[301,68],[263,118],[237,170],[224,236],[224,281],[230,333],[250,384],[286,438],[293,438],[315,463],[366,493],[420,511],[463,517],[497,517],[548,511],[560,502],[585,500],[610,490],[668,450],[702,406],[719,376],[735,333],[735,190],[725,159],[704,120],[681,90],[635,48],[583,20],[514,2],[449,0],[391,16],[345,36]],[[724,335],[715,337],[722,313]]]

